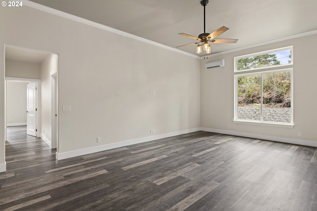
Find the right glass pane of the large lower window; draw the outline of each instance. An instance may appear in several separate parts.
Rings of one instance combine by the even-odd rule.
[[[291,122],[291,73],[263,74],[263,121]]]

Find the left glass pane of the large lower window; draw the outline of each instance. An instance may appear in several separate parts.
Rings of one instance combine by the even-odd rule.
[[[238,119],[261,121],[261,76],[238,77]]]

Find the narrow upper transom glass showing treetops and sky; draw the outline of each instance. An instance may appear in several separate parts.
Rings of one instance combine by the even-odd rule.
[[[290,63],[291,49],[287,49],[238,59],[237,70],[252,70],[256,68],[286,65]]]

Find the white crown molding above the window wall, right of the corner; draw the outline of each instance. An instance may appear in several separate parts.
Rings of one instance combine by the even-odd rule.
[[[265,45],[265,44],[270,44],[270,43],[275,43],[275,42],[282,42],[282,41],[286,41],[286,40],[290,40],[290,39],[301,38],[301,37],[305,37],[305,36],[309,36],[309,35],[315,35],[315,34],[317,34],[317,30],[310,31],[310,32],[305,32],[305,33],[301,33],[301,34],[297,34],[297,35],[292,35],[292,36],[288,36],[288,37],[285,37],[285,38],[279,38],[279,39],[276,39],[276,40],[260,42],[260,43],[257,43],[257,44],[252,44],[252,45],[248,45],[248,46],[245,46],[245,47],[239,47],[239,48],[236,48],[236,49],[227,50],[227,51],[223,51],[223,52],[219,52],[219,53],[214,53],[214,54],[210,54],[210,55],[206,55],[206,56],[207,57],[219,56],[219,55],[223,55],[223,54],[227,54],[227,53],[236,52],[236,51],[239,51],[239,50],[245,50],[245,49],[249,49],[249,48],[252,48],[252,47],[262,46],[262,45]],[[206,56],[201,56],[200,59],[203,59]]]

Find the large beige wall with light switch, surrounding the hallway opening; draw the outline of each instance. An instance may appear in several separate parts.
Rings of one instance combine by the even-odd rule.
[[[0,31],[2,62],[5,43],[59,54],[59,110],[71,105],[71,111],[58,114],[58,153],[200,127],[196,58],[28,6],[3,9]],[[0,119],[3,116],[0,112]]]

